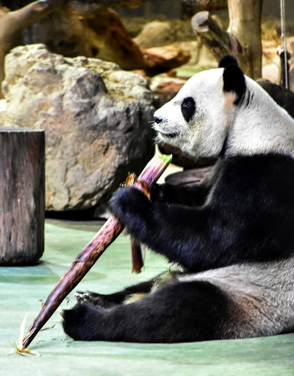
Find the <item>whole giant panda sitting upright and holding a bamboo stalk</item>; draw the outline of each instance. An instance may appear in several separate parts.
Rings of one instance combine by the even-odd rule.
[[[158,141],[218,158],[198,187],[120,188],[110,209],[181,267],[62,312],[75,340],[174,343],[294,329],[294,120],[235,57],[192,77],[154,113]]]

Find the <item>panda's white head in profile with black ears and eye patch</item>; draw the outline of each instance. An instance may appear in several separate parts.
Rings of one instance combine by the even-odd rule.
[[[224,56],[219,68],[193,76],[172,101],[155,111],[157,142],[177,146],[196,159],[217,158],[245,91],[237,59]]]

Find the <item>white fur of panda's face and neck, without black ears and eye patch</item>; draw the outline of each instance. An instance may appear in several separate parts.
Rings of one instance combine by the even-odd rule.
[[[245,99],[234,105],[236,95],[223,92],[222,73],[223,68],[217,68],[196,74],[154,113],[162,118],[154,124],[157,141],[177,146],[196,159],[217,158],[227,136],[227,155],[278,152],[294,156],[292,117],[248,77]],[[249,93],[253,99],[246,106]],[[181,103],[187,97],[193,97],[196,103],[189,122],[181,112]]]

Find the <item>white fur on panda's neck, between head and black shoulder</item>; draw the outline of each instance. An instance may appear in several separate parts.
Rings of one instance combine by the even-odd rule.
[[[278,152],[294,157],[293,118],[258,83],[246,77],[246,85],[254,97],[247,107],[245,98],[243,105],[236,110],[229,132],[227,154]]]

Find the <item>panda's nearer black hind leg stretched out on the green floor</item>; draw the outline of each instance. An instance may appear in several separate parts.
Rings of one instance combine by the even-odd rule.
[[[75,340],[172,343],[227,338],[228,307],[227,295],[208,282],[176,282],[129,304],[76,304],[62,316]]]

